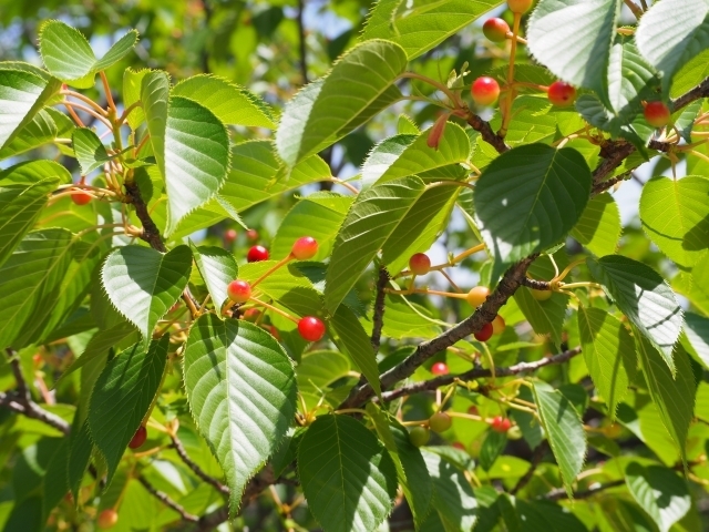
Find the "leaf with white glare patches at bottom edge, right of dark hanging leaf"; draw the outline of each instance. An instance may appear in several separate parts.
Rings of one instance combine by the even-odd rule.
[[[423,451],[429,474],[433,479],[432,508],[445,532],[473,530],[477,519],[477,501],[463,472],[441,456]],[[440,531],[440,528],[430,529]]]

